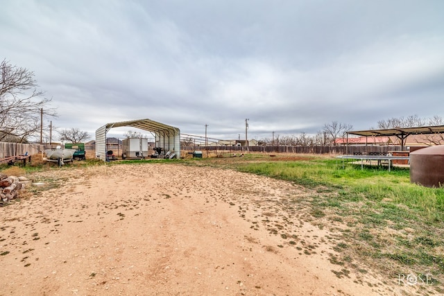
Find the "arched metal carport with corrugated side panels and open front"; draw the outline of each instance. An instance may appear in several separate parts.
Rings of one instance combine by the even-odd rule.
[[[163,148],[165,151],[171,150],[173,153],[176,153],[177,158],[180,158],[180,130],[151,119],[106,123],[101,128],[98,128],[96,130],[96,157],[106,161],[106,134],[112,128],[121,128],[123,126],[131,126],[151,132],[155,136],[156,147]]]

